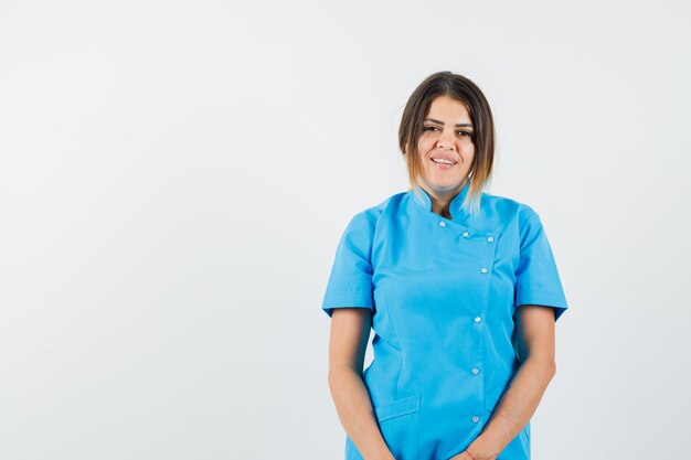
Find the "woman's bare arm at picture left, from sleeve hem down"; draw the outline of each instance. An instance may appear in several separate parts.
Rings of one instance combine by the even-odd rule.
[[[362,367],[370,338],[372,311],[338,308],[331,318],[329,388],[341,425],[365,460],[395,460],[374,416]]]

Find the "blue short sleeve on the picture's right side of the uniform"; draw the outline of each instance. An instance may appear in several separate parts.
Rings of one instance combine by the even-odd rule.
[[[546,233],[535,211],[519,217],[520,258],[515,271],[515,303],[554,308],[554,321],[568,308],[562,282],[548,240]]]

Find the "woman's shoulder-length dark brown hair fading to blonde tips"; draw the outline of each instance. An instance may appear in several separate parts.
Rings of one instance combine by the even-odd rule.
[[[422,173],[422,159],[418,149],[423,133],[423,120],[429,110],[432,101],[439,96],[448,96],[465,104],[472,121],[475,156],[468,180],[470,188],[464,200],[463,207],[470,214],[480,210],[482,189],[489,182],[495,160],[495,122],[487,98],[480,88],[469,78],[451,72],[437,72],[429,75],[408,98],[401,127],[398,128],[398,146],[406,159],[408,182],[411,190],[416,194]]]

